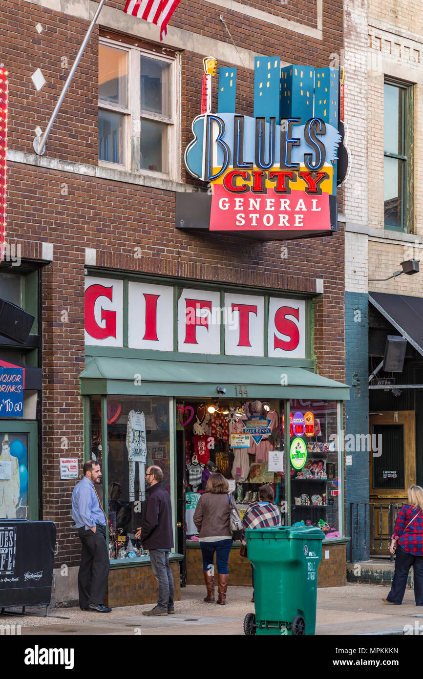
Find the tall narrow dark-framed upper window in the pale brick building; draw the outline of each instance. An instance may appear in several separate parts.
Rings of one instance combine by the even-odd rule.
[[[413,88],[386,79],[384,85],[384,225],[413,230],[412,109]]]

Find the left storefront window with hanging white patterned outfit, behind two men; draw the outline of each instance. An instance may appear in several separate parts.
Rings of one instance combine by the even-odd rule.
[[[91,399],[91,458],[103,466],[101,400]],[[145,471],[157,464],[172,494],[169,399],[107,397],[107,489],[111,559],[147,556],[135,538],[145,505]],[[99,492],[100,494],[100,492]]]

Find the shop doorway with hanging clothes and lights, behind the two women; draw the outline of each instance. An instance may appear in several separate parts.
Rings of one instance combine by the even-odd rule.
[[[177,547],[184,555],[182,586],[200,584],[192,577],[193,571],[202,573],[194,512],[211,473],[225,477],[241,517],[249,503],[259,499],[260,486],[270,483],[281,523],[286,523],[284,477],[268,469],[269,453],[284,452],[283,403],[279,399],[249,401],[248,394],[243,399],[177,399]],[[255,427],[254,437],[243,433],[247,424]]]

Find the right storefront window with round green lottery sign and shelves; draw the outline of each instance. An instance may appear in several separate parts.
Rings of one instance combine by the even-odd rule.
[[[293,400],[289,419],[291,524],[304,521],[338,537],[337,403]]]

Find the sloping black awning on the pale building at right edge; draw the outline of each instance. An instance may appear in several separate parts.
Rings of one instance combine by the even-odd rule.
[[[423,356],[423,298],[369,293],[369,301]]]

